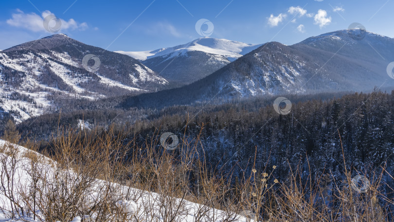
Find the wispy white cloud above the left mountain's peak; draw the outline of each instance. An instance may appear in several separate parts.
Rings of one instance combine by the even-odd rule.
[[[17,9],[17,13],[12,14],[11,19],[7,19],[7,24],[19,28],[25,28],[34,32],[47,31],[44,28],[44,19],[49,15],[54,15],[52,12],[46,10],[42,12],[41,16],[36,13],[24,13],[23,11]],[[61,21],[61,30],[85,30],[88,28],[88,24],[86,22],[78,23],[74,19],[70,19],[65,21],[60,19]]]

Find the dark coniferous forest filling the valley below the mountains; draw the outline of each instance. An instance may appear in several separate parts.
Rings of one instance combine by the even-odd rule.
[[[308,182],[324,176],[324,186],[329,187],[344,183],[346,173],[352,177],[362,174],[371,183],[379,181],[376,192],[385,197],[379,202],[391,212],[393,205],[388,200],[394,197],[390,188],[394,185],[390,176],[394,167],[394,91],[314,96],[317,99],[288,96],[293,104],[287,115],[274,111],[272,99],[251,98],[160,111],[109,109],[48,114],[18,128],[25,129],[20,130],[24,138],[46,135],[41,137],[42,151],[50,151],[56,136],[51,133],[59,128],[76,129],[80,119],[91,124],[91,129],[79,126],[85,136],[100,138],[113,129],[115,134],[125,136],[124,143],[133,141],[139,148],[148,147],[166,131],[191,143],[198,138],[198,151],[206,154],[201,161],[208,164],[209,171],[227,175],[233,185],[253,169],[263,172],[272,166],[276,166],[273,175],[279,182],[288,181],[289,172],[298,170],[300,180]],[[145,118],[131,124],[133,119],[127,118],[130,113]],[[160,143],[155,148],[163,149]],[[173,152],[181,158],[179,149]],[[196,184],[197,179],[191,179],[190,185]]]

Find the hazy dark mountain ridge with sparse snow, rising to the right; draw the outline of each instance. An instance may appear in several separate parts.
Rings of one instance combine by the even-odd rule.
[[[387,65],[394,61],[393,52],[393,38],[360,29],[310,37],[291,46],[268,42],[195,83],[128,97],[123,106],[158,107],[256,95],[393,88],[394,79],[386,72]]]

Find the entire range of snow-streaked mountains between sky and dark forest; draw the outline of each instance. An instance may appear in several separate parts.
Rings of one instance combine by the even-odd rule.
[[[290,46],[198,38],[161,50],[123,52],[137,60],[58,34],[0,52],[0,115],[20,122],[61,108],[83,109],[83,103],[97,104],[94,109],[161,108],[258,95],[392,89],[386,67],[393,52],[393,38],[354,29]],[[92,59],[82,64],[90,54],[101,63],[97,70],[87,69],[95,65]]]

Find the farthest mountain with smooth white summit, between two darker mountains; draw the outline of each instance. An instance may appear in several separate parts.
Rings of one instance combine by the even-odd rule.
[[[153,51],[116,52],[139,59],[169,82],[182,86],[217,71],[259,46],[261,44],[206,37]]]

